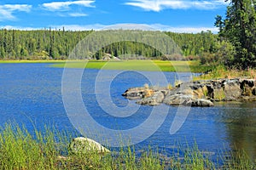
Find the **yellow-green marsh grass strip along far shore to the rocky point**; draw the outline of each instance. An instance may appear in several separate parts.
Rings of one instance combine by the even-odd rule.
[[[199,60],[178,61],[178,60],[0,60],[0,64],[19,64],[19,63],[49,63],[55,68],[86,68],[106,69],[106,70],[131,70],[131,71],[191,71],[202,73],[201,76],[193,77],[194,81],[210,80],[220,78],[252,78],[256,79],[256,70],[228,69],[224,65],[201,65]],[[67,64],[66,64],[67,63]],[[107,65],[107,66],[104,66]],[[154,66],[153,66],[154,65]],[[103,68],[102,68],[103,67]]]

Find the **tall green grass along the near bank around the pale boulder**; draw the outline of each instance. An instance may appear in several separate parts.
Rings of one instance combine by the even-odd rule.
[[[11,124],[2,127],[0,169],[253,169],[255,165],[244,154],[233,157],[226,153],[220,156],[224,163],[216,164],[196,144],[191,148],[179,147],[178,153],[169,157],[150,147],[139,155],[134,147],[105,155],[95,152],[74,155],[68,149],[71,134],[45,129],[45,133],[31,134],[26,127]]]

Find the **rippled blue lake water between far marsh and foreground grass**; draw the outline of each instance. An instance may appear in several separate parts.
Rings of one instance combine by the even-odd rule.
[[[3,126],[6,122],[17,122],[26,125],[29,131],[34,127],[38,130],[44,129],[44,125],[54,125],[57,129],[68,132],[76,131],[62,101],[62,73],[63,69],[52,68],[50,64],[1,64],[0,125]],[[104,71],[104,73],[112,75],[117,71]],[[88,69],[84,71],[81,82],[84,106],[98,124],[109,129],[125,131],[139,126],[150,117],[153,107],[140,106],[135,104],[135,101],[131,101],[130,106],[128,100],[121,96],[127,88],[142,87],[145,83],[150,85],[149,80],[143,76],[144,72],[141,74],[137,71],[120,72],[116,77],[112,77],[110,87],[107,87],[106,91],[102,84],[108,77],[97,81],[100,83],[98,84],[100,89],[95,88],[98,74],[99,70]],[[147,74],[154,77],[157,73],[147,72]],[[176,73],[173,72],[164,72],[164,75],[172,84],[177,79]],[[153,85],[166,84],[159,82]],[[108,99],[108,95],[101,94],[104,92],[109,93],[111,99]],[[122,115],[124,111],[126,115],[109,115],[108,111],[112,109],[108,108],[108,104],[109,107],[112,104],[119,107],[119,112],[113,111],[113,114]],[[105,111],[101,105],[109,110]],[[239,149],[245,150],[250,158],[256,159],[255,105],[256,102],[232,102],[216,103],[210,108],[193,107],[183,126],[174,134],[169,132],[178,107],[156,106],[155,111],[159,113],[159,119],[164,116],[164,121],[159,127],[155,127],[156,132],[136,145],[140,148],[150,144],[165,148],[167,152],[172,153],[177,148],[177,143],[193,145],[196,141],[200,150],[211,153],[213,157],[217,156],[221,150]],[[138,108],[137,111],[134,114],[129,113],[134,108]],[[163,114],[164,111],[167,111],[166,115]],[[157,122],[157,116],[154,119]],[[145,133],[138,132],[136,135],[142,139]]]

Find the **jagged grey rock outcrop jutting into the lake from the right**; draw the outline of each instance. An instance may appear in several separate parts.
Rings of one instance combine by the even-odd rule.
[[[256,100],[256,80],[247,78],[183,82],[175,88],[129,88],[122,94],[139,105],[213,106],[218,101]]]

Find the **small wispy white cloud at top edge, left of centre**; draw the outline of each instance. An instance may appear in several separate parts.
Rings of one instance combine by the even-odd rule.
[[[95,1],[90,0],[78,0],[78,1],[66,1],[66,2],[52,2],[43,3],[42,6],[49,11],[67,11],[70,10],[71,5],[79,5],[83,7],[94,7],[91,3]]]

